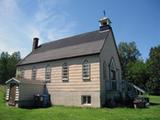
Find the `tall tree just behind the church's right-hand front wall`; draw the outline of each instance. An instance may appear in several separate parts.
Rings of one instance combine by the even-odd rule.
[[[127,72],[127,65],[129,63],[134,63],[140,58],[140,52],[137,49],[135,42],[121,42],[118,45],[118,51],[121,59],[121,65],[122,65],[122,78],[126,79],[126,72]]]

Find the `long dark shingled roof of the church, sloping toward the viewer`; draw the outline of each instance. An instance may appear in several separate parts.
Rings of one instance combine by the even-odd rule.
[[[18,65],[98,54],[108,34],[109,30],[97,30],[41,44]]]

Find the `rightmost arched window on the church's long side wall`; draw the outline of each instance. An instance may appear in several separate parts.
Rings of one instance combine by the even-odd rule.
[[[88,63],[88,60],[84,60],[82,65],[82,74],[83,74],[83,80],[89,80],[90,79],[90,64]]]

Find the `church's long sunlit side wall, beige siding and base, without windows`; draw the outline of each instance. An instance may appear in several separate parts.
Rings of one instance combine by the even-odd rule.
[[[90,63],[90,81],[82,78],[82,63],[87,59]],[[69,81],[62,81],[62,65],[69,65]],[[81,106],[81,95],[91,95],[92,105],[100,107],[100,63],[99,55],[77,57],[53,62],[20,66],[24,68],[24,77],[31,79],[32,67],[37,68],[36,80],[45,80],[45,67],[51,66],[51,82],[47,90],[51,94],[53,104]],[[74,99],[73,99],[74,98]],[[92,106],[91,105],[91,106]]]

